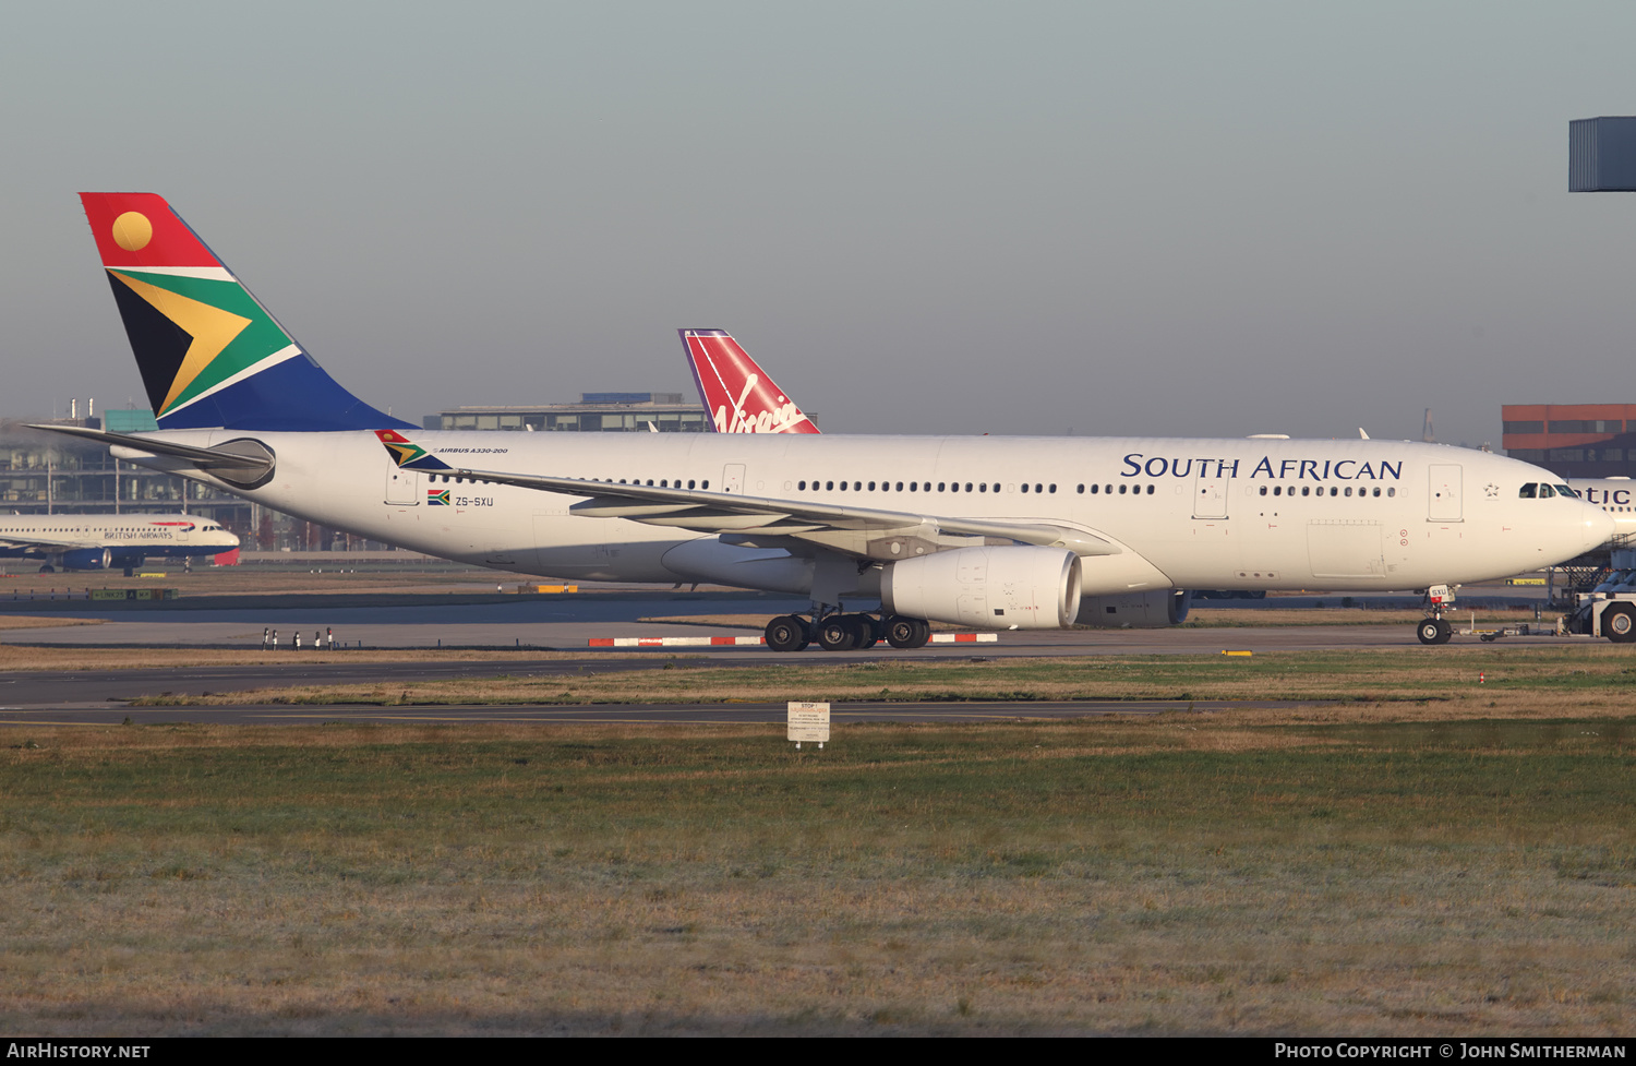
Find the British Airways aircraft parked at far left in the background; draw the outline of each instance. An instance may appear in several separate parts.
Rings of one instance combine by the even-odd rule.
[[[196,514],[0,514],[0,558],[38,558],[39,571],[110,570],[126,576],[151,557],[222,555],[239,537]]]

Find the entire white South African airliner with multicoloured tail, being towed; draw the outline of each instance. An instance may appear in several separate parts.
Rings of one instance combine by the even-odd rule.
[[[59,432],[447,558],[808,596],[774,650],[1062,627],[1183,588],[1425,589],[1613,532],[1541,496],[1546,470],[1428,444],[420,432],[337,385],[160,196],[82,201],[159,431]],[[843,606],[877,596],[879,617]],[[1425,644],[1449,639],[1438,611]]]

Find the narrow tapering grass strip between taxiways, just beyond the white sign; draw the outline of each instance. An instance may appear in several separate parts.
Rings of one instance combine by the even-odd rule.
[[[707,666],[707,668],[699,668]],[[1445,714],[1415,704],[1505,701],[1507,714],[1625,714],[1636,668],[1626,650],[1574,647],[1441,647],[1274,652],[1255,657],[1122,655],[883,660],[712,666],[677,658],[654,670],[456,681],[286,686],[213,696],[147,698],[198,704],[594,704],[1278,699],[1404,704],[1400,714]],[[1499,704],[1495,704],[1499,706]],[[1422,714],[1422,716],[1423,716]]]

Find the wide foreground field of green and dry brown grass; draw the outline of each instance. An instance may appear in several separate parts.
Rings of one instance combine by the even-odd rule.
[[[29,1033],[1628,1033],[1636,719],[87,727]]]

